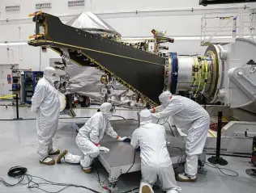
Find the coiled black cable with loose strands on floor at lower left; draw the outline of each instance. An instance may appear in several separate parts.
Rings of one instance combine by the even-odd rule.
[[[15,187],[16,185],[28,185],[28,188],[33,189],[36,188],[38,190],[41,191],[45,191],[47,193],[58,193],[63,191],[64,189],[68,188],[68,187],[80,187],[80,188],[84,188],[87,189],[88,191],[92,191],[94,193],[100,193],[99,191],[95,191],[92,190],[89,187],[84,187],[81,185],[76,185],[76,184],[71,184],[71,183],[53,183],[45,178],[41,178],[39,176],[35,176],[35,175],[31,175],[31,174],[27,174],[27,168],[22,167],[22,166],[15,166],[15,167],[11,167],[11,169],[8,171],[8,175],[11,178],[17,178],[18,182],[15,184],[10,184],[10,183],[6,183],[6,181],[3,178],[0,178],[0,183],[4,184],[6,187]],[[27,178],[27,182],[26,183],[22,183],[25,178]],[[43,182],[41,183],[37,183],[35,181],[35,178],[41,179]],[[62,187],[62,189],[60,189],[59,191],[46,191],[45,189],[42,189],[40,186],[41,185],[51,185],[51,186],[58,186],[58,187]]]

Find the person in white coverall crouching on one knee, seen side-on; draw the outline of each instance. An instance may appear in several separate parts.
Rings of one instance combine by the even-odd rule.
[[[100,151],[109,152],[108,148],[100,146],[100,140],[105,132],[114,139],[117,139],[117,141],[124,141],[127,138],[117,136],[117,132],[113,130],[109,121],[112,115],[113,107],[111,103],[103,103],[100,106],[100,111],[97,111],[96,114],[87,120],[76,136],[75,143],[84,156],[73,155],[65,150],[60,154],[57,162],[80,163],[85,173],[92,173],[93,159],[100,154]]]

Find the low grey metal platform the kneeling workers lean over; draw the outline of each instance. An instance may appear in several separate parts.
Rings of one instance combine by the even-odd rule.
[[[113,120],[113,129],[119,136],[129,136],[138,128],[136,120]],[[81,128],[81,124],[78,124]],[[173,162],[173,167],[185,161],[185,143],[173,136],[170,128],[166,128],[166,140],[169,154]],[[140,170],[140,152],[134,153],[134,148],[130,143],[116,141],[105,134],[100,141],[100,145],[110,149],[109,153],[100,153],[98,159],[109,173],[109,183],[117,182],[121,174],[131,173]]]

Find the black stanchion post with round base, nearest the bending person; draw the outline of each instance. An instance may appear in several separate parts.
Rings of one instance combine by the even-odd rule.
[[[218,112],[218,131],[217,131],[217,145],[216,156],[212,156],[208,159],[208,162],[212,164],[219,164],[220,166],[228,165],[228,162],[220,157],[220,141],[221,141],[221,125],[222,125],[222,111]]]

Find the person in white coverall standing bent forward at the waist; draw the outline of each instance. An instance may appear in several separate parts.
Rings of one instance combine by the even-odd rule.
[[[161,105],[151,109],[157,119],[173,118],[177,128],[187,134],[185,173],[177,175],[177,181],[195,182],[198,173],[198,155],[203,153],[210,125],[207,111],[193,100],[164,91],[159,96]]]

